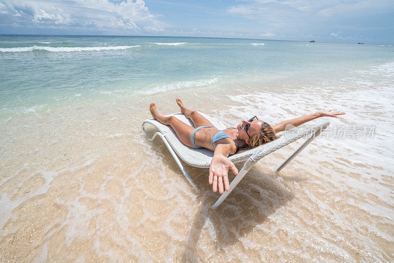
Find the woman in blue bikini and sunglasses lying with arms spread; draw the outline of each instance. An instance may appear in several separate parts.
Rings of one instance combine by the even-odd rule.
[[[224,192],[223,183],[226,191],[230,190],[228,170],[231,169],[235,175],[238,174],[238,169],[227,158],[229,155],[235,154],[238,149],[254,148],[273,141],[277,138],[275,133],[285,131],[287,125],[296,127],[319,117],[336,118],[336,115],[345,114],[342,111],[322,110],[310,115],[283,121],[273,127],[254,116],[248,121],[242,121],[237,125],[237,128],[219,131],[197,111],[185,108],[180,99],[176,99],[176,103],[181,108],[181,113],[192,120],[196,128],[185,124],[174,116],[161,116],[156,110],[155,103],[150,104],[149,110],[153,119],[164,125],[171,126],[185,145],[194,149],[206,148],[214,151],[209,166],[209,184],[213,184],[213,192],[216,192],[217,187],[219,187],[219,193],[221,194]]]

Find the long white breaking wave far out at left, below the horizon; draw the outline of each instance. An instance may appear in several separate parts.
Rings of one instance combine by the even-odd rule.
[[[119,50],[128,49],[135,46],[99,46],[99,47],[43,47],[43,46],[32,46],[32,47],[12,47],[12,48],[0,48],[0,52],[28,52],[34,50],[44,50],[49,52],[76,52],[76,51],[100,51],[100,50]]]

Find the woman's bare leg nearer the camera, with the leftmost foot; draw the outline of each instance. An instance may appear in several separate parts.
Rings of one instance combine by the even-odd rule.
[[[196,149],[196,147],[194,147],[192,140],[190,138],[192,135],[192,132],[194,130],[194,128],[192,126],[187,125],[186,123],[178,120],[174,116],[164,117],[164,116],[160,115],[156,110],[155,103],[151,103],[149,105],[149,110],[153,116],[153,119],[163,123],[164,125],[171,126],[171,128],[175,131],[176,135],[181,140],[181,142],[183,142],[183,144]]]

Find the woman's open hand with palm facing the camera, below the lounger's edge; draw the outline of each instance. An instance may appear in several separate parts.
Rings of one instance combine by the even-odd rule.
[[[223,182],[225,183],[226,191],[230,190],[229,176],[227,173],[229,169],[231,169],[235,175],[238,174],[238,169],[229,158],[221,154],[213,156],[211,165],[209,166],[209,184],[213,184],[213,192],[216,192],[217,186],[219,186],[219,193],[223,194]]]

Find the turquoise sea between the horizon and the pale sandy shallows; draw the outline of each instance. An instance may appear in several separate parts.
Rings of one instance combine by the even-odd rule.
[[[1,114],[198,89],[234,79],[338,75],[394,60],[394,46],[146,36],[0,35]]]

